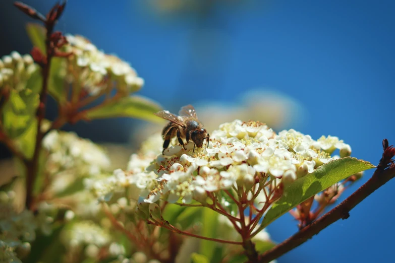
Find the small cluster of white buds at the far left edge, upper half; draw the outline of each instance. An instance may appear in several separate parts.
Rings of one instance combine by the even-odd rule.
[[[10,86],[17,91],[24,90],[38,68],[29,54],[21,56],[13,51],[10,55],[3,56],[0,59],[0,88]]]

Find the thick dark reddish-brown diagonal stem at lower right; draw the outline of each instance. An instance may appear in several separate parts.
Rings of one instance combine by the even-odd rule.
[[[374,172],[373,176],[358,190],[351,194],[346,200],[344,200],[331,211],[320,217],[311,225],[308,225],[292,237],[261,254],[257,262],[270,262],[271,260],[276,259],[279,256],[284,255],[288,251],[294,249],[295,247],[303,244],[314,235],[318,234],[322,229],[326,228],[337,220],[344,220],[349,218],[349,212],[351,209],[361,203],[365,198],[367,198],[367,196],[372,194],[375,190],[384,185],[393,177],[395,177],[395,166],[391,166],[390,168],[385,170],[382,169],[380,166],[377,166],[377,169]]]

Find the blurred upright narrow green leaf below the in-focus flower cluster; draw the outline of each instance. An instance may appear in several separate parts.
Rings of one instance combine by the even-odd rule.
[[[201,235],[204,237],[212,237],[215,238],[217,236],[216,229],[218,224],[218,213],[215,211],[205,208],[203,209],[202,216],[202,231]],[[207,258],[211,258],[214,254],[214,250],[216,247],[216,243],[210,240],[201,240],[200,241],[200,251],[199,253],[207,256]]]

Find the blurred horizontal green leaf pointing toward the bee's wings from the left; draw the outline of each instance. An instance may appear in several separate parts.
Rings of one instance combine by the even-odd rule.
[[[132,117],[155,122],[162,119],[153,113],[160,110],[155,102],[139,96],[125,97],[87,110],[89,119]]]

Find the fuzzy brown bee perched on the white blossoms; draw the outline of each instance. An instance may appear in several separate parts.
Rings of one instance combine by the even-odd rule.
[[[170,140],[177,135],[178,142],[187,150],[184,145],[183,139],[187,141],[186,144],[189,143],[189,140],[194,142],[193,152],[195,152],[195,146],[201,148],[203,146],[203,141],[207,139],[207,147],[210,139],[210,135],[207,133],[207,130],[203,127],[203,124],[198,120],[196,115],[196,110],[192,105],[184,106],[178,112],[179,115],[170,113],[168,110],[162,110],[157,113],[154,113],[156,116],[159,116],[163,119],[170,120],[166,126],[164,126],[162,130],[162,136],[164,139],[163,142],[163,151],[170,144]]]

